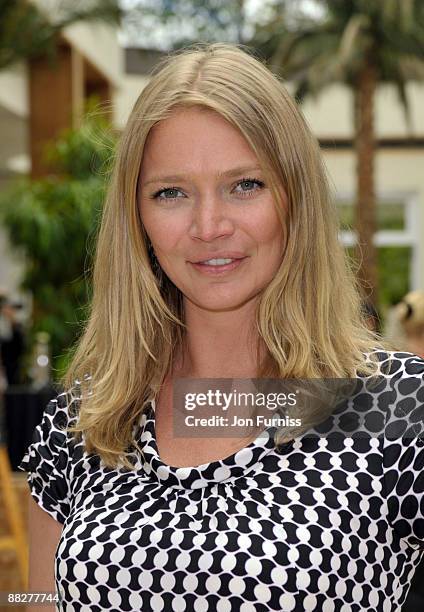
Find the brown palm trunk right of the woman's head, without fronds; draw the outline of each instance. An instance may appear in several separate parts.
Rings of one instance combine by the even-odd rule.
[[[359,262],[358,279],[363,298],[378,307],[377,249],[374,234],[377,231],[377,204],[374,188],[374,97],[377,76],[371,62],[359,74],[355,103],[355,152],[357,161],[357,203],[355,229],[357,231],[356,257]]]

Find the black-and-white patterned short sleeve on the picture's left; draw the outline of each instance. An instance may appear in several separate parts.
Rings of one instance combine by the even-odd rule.
[[[59,523],[69,515],[69,445],[64,429],[69,423],[69,396],[51,400],[35,428],[19,470],[28,473],[32,497]]]

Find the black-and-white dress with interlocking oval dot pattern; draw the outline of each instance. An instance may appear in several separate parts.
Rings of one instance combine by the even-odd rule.
[[[154,402],[134,429],[144,458],[130,471],[61,431],[75,389],[52,400],[19,468],[63,523],[58,609],[400,610],[424,551],[424,359],[378,355],[389,373],[372,392],[364,379],[349,402],[383,412],[385,435],[300,436],[274,449],[269,429],[196,467],[160,460]],[[407,422],[414,435],[386,435]]]

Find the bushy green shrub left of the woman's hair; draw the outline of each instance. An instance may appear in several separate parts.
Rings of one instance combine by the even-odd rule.
[[[88,313],[90,268],[115,137],[99,119],[67,130],[50,149],[60,174],[21,179],[0,195],[0,222],[24,255],[22,289],[33,295],[33,327],[51,335],[60,374]],[[29,356],[28,356],[29,358]]]

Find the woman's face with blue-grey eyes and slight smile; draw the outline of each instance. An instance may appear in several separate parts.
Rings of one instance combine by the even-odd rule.
[[[162,269],[189,303],[234,310],[275,276],[284,232],[264,181],[244,137],[213,111],[178,109],[150,131],[141,218]]]

